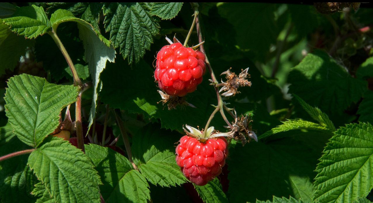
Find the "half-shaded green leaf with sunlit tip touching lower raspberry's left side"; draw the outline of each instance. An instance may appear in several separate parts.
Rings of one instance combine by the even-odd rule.
[[[132,140],[134,162],[141,174],[154,185],[170,187],[187,180],[176,164],[173,133],[145,127]],[[175,137],[178,136],[177,134]]]

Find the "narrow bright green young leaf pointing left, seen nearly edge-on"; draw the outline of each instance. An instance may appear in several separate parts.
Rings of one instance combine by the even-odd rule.
[[[266,138],[272,134],[286,132],[289,130],[316,130],[316,131],[330,131],[327,127],[312,123],[310,121],[305,121],[300,118],[286,120],[282,122],[283,124],[273,128],[272,130],[267,131],[266,133],[262,134],[259,139]]]

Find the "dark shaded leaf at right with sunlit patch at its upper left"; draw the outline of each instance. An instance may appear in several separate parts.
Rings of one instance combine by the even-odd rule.
[[[308,54],[289,73],[290,92],[328,115],[340,114],[358,102],[367,82],[351,75],[323,51]]]

